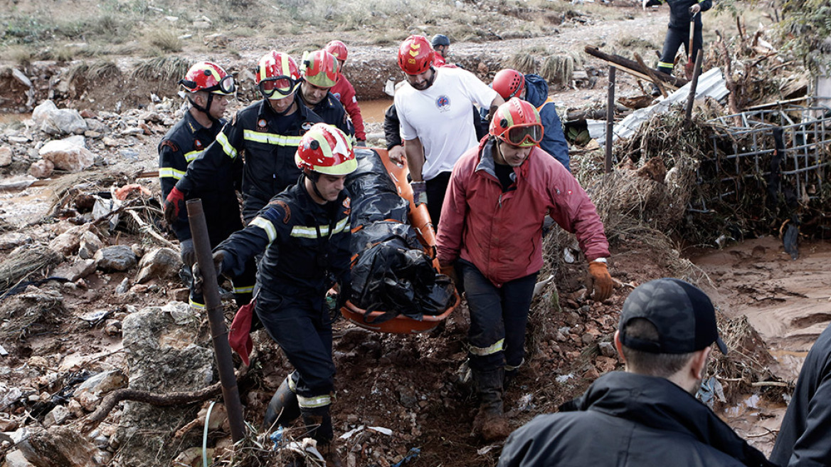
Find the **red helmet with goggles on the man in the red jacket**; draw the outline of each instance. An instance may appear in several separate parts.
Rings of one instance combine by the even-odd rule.
[[[509,145],[538,145],[543,140],[543,121],[534,106],[512,97],[494,112],[494,118],[490,120],[490,134]]]

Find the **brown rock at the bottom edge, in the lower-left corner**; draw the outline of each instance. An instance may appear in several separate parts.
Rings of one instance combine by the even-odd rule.
[[[52,426],[37,430],[18,443],[26,460],[36,467],[93,467],[97,465],[96,447],[78,430],[69,426]]]

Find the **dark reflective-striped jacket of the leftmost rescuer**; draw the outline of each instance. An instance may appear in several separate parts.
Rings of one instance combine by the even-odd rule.
[[[210,128],[205,128],[194,119],[190,111],[187,111],[184,113],[184,118],[168,130],[159,143],[159,179],[162,198],[167,198],[170,190],[188,170],[190,162],[214,142],[219,130],[222,130],[226,123],[226,120],[219,120],[214,122]],[[193,189],[185,196],[185,199],[202,199],[205,223],[208,224],[208,234],[212,245],[216,245],[228,238],[235,230],[243,227],[239,219],[239,202],[236,193],[242,176],[243,161],[234,160],[229,170],[218,173],[211,184]],[[173,227],[176,238],[179,238],[180,242],[191,237],[186,210],[179,212],[179,219]]]

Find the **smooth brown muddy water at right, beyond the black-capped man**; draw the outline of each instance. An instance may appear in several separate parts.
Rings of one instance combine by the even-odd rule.
[[[783,381],[799,376],[805,356],[831,322],[831,243],[804,241],[791,260],[778,238],[756,238],[691,258],[712,279],[708,290],[728,317],[745,316],[767,343]],[[770,454],[785,401],[750,394],[721,416],[751,445]]]

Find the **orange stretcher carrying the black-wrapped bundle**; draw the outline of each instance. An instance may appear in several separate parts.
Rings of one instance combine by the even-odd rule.
[[[439,260],[435,258],[435,229],[433,229],[433,224],[430,222],[430,214],[427,212],[427,206],[425,204],[416,206],[413,202],[413,190],[407,182],[407,175],[410,173],[410,170],[407,169],[406,165],[399,167],[392,163],[386,150],[372,149],[381,156],[381,161],[384,163],[387,173],[389,173],[390,178],[396,184],[398,194],[401,198],[410,202],[410,225],[416,229],[419,242],[424,247],[425,253],[430,258],[433,258],[433,268],[438,272],[440,269]],[[384,315],[385,312],[366,312],[366,310],[356,307],[348,300],[346,305],[341,308],[341,314],[357,326],[364,327],[370,331],[412,334],[416,332],[427,332],[435,328],[440,322],[450,316],[450,313],[459,306],[460,302],[459,292],[454,289],[453,303],[450,307],[447,307],[445,312],[440,315],[424,315],[420,320],[398,315],[385,322],[373,323],[375,319]]]

